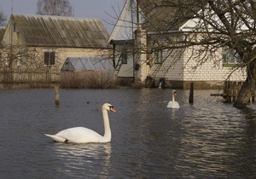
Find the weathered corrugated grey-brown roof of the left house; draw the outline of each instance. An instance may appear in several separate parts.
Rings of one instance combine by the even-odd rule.
[[[13,14],[29,46],[107,48],[108,32],[98,19]]]

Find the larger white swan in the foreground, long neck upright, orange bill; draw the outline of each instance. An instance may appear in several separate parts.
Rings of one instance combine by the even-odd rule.
[[[55,135],[48,135],[54,141],[73,142],[73,143],[89,143],[89,142],[109,142],[111,141],[111,130],[108,120],[108,111],[116,113],[111,104],[105,103],[102,105],[102,116],[104,122],[104,136],[99,135],[93,130],[84,127],[73,127],[67,130],[61,130]]]

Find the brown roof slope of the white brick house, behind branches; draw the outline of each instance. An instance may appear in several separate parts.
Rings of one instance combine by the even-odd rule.
[[[206,2],[140,0],[143,12],[143,29],[147,32],[178,31]],[[187,4],[186,4],[187,3]],[[186,5],[184,5],[186,4]]]

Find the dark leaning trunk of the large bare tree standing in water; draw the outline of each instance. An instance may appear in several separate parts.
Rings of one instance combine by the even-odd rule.
[[[253,91],[255,90],[256,79],[256,64],[255,62],[251,66],[247,66],[247,79],[242,84],[241,90],[236,98],[233,107],[246,107],[250,101]]]

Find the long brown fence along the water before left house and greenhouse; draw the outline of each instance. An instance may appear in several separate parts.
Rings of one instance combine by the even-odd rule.
[[[0,68],[0,87],[41,88],[53,87],[78,89],[108,89],[115,86],[114,72],[83,71],[60,72],[55,68],[10,70]]]

